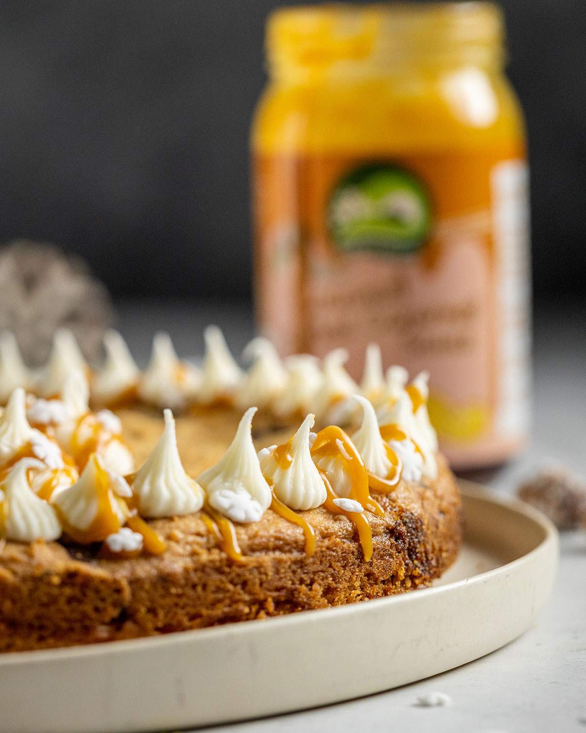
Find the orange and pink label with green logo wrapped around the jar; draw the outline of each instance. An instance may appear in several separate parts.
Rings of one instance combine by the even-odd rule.
[[[281,353],[369,342],[431,374],[429,410],[456,465],[524,440],[527,168],[519,150],[256,159],[256,294]]]

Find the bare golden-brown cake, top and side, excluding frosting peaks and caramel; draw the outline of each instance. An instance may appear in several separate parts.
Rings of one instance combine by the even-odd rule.
[[[411,399],[409,410],[415,413],[419,402],[413,390]],[[116,413],[122,421],[121,444],[123,439],[141,466],[160,441],[160,413],[138,404]],[[186,474],[200,476],[226,454],[241,417],[242,410],[220,405],[192,407],[178,417],[177,446]],[[298,421],[277,423],[266,410],[257,416],[255,449],[275,444],[290,448]],[[352,443],[340,447],[342,454],[348,446]],[[87,450],[82,453],[84,461],[77,461],[80,473],[82,463],[92,460]],[[256,452],[253,455],[256,460]],[[164,551],[156,554],[105,553],[105,543],[73,542],[67,524],[59,541],[0,540],[0,652],[263,619],[429,586],[452,564],[461,544],[455,479],[439,454],[431,460],[437,460],[434,477],[406,480],[399,472],[391,488],[379,482],[381,491],[375,477],[371,498],[378,503],[378,513],[360,515],[368,515],[362,527],[371,533],[371,557],[366,556],[355,521],[363,507],[333,513],[335,507],[326,501],[305,511],[289,509],[289,515],[313,528],[312,554],[295,517],[283,518],[273,510],[275,498],[258,520],[231,525],[242,551],[236,560],[224,551],[217,527],[210,529],[203,512],[148,519],[149,528],[164,543]],[[326,476],[323,471],[320,475]],[[82,475],[78,483],[83,479]],[[58,503],[56,507],[59,510]],[[58,516],[62,518],[59,512]]]

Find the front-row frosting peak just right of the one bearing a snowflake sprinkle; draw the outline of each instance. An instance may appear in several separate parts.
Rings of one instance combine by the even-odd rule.
[[[322,476],[311,459],[309,435],[315,416],[309,414],[291,441],[291,463],[283,468],[275,460],[274,449],[259,453],[262,473],[272,484],[275,496],[291,509],[314,509],[326,500]]]

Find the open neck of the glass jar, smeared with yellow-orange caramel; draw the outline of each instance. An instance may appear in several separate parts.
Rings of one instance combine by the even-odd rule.
[[[272,70],[326,70],[338,62],[482,63],[502,57],[503,19],[490,2],[331,4],[276,10],[267,23]]]

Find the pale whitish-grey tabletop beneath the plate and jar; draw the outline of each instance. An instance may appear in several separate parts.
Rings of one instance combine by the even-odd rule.
[[[201,353],[207,323],[223,328],[235,354],[253,335],[247,306],[135,302],[120,306],[119,315],[120,330],[143,362],[157,329],[169,331],[182,356]],[[534,377],[530,449],[497,471],[469,476],[494,490],[513,493],[520,479],[552,460],[586,476],[585,306],[557,302],[538,311]],[[415,707],[418,696],[432,691],[447,693],[453,704]],[[535,627],[504,649],[397,690],[209,730],[586,733],[586,532],[563,534],[552,597]]]

